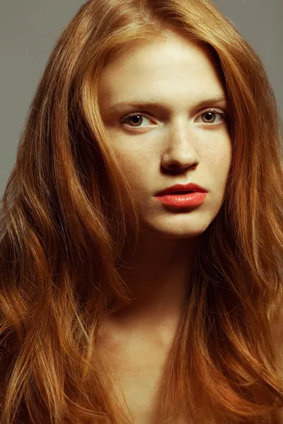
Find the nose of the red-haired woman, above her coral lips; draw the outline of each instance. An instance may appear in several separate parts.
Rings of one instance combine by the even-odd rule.
[[[188,126],[179,124],[170,131],[161,163],[166,170],[185,170],[199,165],[196,136]]]

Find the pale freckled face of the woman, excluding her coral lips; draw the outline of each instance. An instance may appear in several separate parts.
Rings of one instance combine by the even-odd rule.
[[[166,238],[195,237],[219,212],[231,165],[229,105],[210,101],[219,97],[225,98],[224,87],[209,51],[183,37],[137,44],[105,67],[101,114],[141,228]],[[139,114],[130,118],[133,112]],[[170,206],[156,196],[190,182],[207,191],[198,206]]]

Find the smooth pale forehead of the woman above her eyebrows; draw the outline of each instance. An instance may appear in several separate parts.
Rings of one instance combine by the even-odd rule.
[[[209,49],[179,36],[137,43],[115,54],[103,69],[99,93],[102,107],[128,98],[189,105],[225,95]]]

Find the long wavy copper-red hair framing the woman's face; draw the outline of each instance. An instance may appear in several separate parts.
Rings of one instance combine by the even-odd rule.
[[[90,0],[54,46],[1,199],[0,424],[129,422],[96,346],[106,315],[131,302],[119,268],[139,219],[98,89],[113,54],[174,33],[214,54],[233,157],[196,254],[156,423],[181,413],[211,423],[211,411],[227,423],[276,422],[282,126],[262,61],[210,0]]]

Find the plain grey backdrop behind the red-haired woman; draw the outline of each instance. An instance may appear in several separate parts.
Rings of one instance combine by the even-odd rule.
[[[122,1],[122,0],[121,0]],[[265,65],[283,121],[283,0],[215,0]],[[81,0],[0,0],[0,197],[54,43]]]

